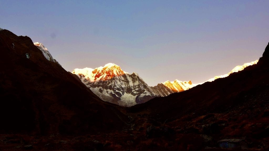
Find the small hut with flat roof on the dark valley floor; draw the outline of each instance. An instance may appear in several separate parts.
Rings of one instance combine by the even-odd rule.
[[[247,142],[244,139],[222,139],[218,143],[220,148],[247,148]]]

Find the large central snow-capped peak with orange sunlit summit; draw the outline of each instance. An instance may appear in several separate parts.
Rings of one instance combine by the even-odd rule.
[[[124,72],[113,63],[95,69],[74,69],[72,73],[102,100],[111,103],[133,106],[156,97],[137,73]]]

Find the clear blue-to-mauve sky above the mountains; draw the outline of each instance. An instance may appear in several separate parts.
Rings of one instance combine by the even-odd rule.
[[[200,83],[262,56],[268,6],[268,0],[0,0],[0,28],[43,43],[66,71],[115,63],[149,86]]]

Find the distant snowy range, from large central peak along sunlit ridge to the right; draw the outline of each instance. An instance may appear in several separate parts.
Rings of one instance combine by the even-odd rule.
[[[257,64],[257,62],[258,60],[245,63],[242,66],[236,66],[228,74],[215,76],[206,82],[227,77],[232,73],[245,69],[247,66]],[[101,66],[95,69],[74,69],[72,73],[76,74],[102,100],[128,107],[147,102],[155,97],[186,91],[204,83],[192,84],[191,81],[175,80],[161,82],[154,87],[150,87],[137,73],[129,74],[113,63],[108,63],[104,67]]]

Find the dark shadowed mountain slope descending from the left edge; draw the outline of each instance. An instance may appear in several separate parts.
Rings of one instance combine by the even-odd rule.
[[[0,133],[88,134],[121,130],[128,118],[103,102],[32,40],[0,31]]]

